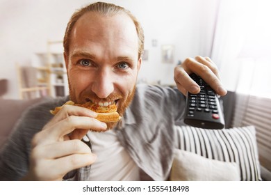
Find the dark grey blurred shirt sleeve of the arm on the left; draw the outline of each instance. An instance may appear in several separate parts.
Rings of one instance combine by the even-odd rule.
[[[42,127],[52,116],[49,113],[56,102],[42,102],[33,105],[17,121],[10,137],[0,151],[0,180],[20,180],[28,172],[29,156],[31,153],[31,140],[35,133],[42,130]]]

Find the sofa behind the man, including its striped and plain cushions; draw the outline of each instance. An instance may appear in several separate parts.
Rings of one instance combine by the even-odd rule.
[[[33,100],[0,99],[0,150],[23,111],[47,98]],[[176,124],[176,151],[170,180],[271,180],[261,166],[253,126],[233,127],[231,94],[222,98],[226,129],[204,130]]]

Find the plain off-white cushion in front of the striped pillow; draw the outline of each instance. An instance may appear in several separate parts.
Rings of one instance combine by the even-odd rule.
[[[236,162],[208,159],[176,149],[170,174],[172,181],[240,181],[240,168]]]

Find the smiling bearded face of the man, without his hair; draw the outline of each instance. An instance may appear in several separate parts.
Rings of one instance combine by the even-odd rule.
[[[141,64],[133,21],[125,14],[86,13],[74,26],[65,63],[72,101],[115,102],[122,116],[133,99]]]

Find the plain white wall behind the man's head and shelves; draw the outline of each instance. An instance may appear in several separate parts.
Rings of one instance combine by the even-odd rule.
[[[18,98],[15,63],[31,64],[35,52],[45,52],[47,40],[62,40],[74,10],[94,1],[0,0],[0,79],[8,79],[4,98]],[[148,61],[140,81],[173,84],[177,61],[196,55],[210,56],[216,0],[108,1],[131,10],[145,30]],[[157,40],[157,46],[152,41]],[[161,46],[174,45],[174,62],[162,63]]]

